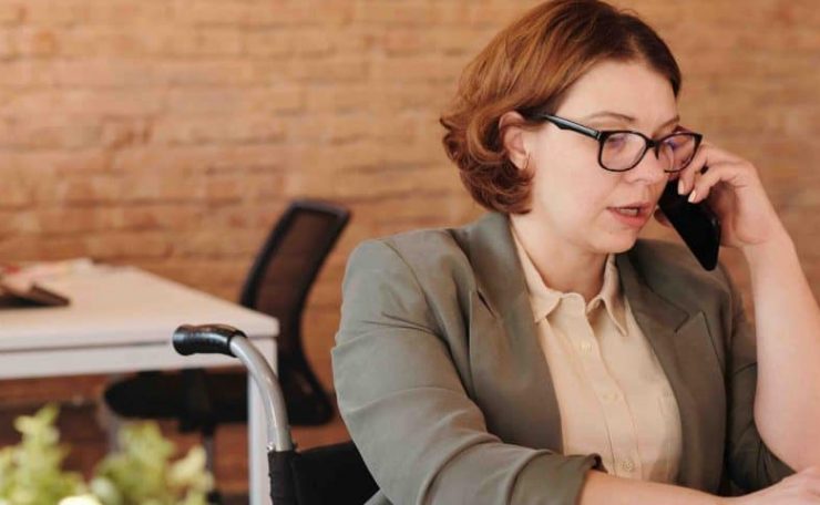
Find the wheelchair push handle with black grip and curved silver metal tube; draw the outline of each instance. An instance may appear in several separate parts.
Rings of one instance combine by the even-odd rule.
[[[227,324],[183,324],[174,331],[174,349],[182,355],[196,353],[236,357],[248,370],[262,396],[268,419],[268,452],[293,451],[287,408],[279,381],[258,349],[247,336]]]

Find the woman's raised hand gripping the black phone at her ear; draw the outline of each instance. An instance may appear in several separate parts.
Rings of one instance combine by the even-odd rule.
[[[705,168],[708,167],[708,168]],[[746,249],[786,233],[755,166],[707,142],[678,181],[689,202],[707,200],[720,219],[720,245]],[[667,225],[665,216],[657,216]]]

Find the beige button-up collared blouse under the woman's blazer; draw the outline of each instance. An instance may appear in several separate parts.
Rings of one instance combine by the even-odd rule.
[[[613,475],[672,483],[680,460],[680,414],[660,364],[624,299],[615,256],[601,292],[549,288],[523,246],[535,326],[561,413],[564,454],[597,453]]]

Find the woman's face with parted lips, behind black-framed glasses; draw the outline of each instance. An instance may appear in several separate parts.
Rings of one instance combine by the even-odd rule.
[[[606,61],[568,91],[555,115],[595,130],[634,130],[650,138],[672,133],[678,112],[672,84],[642,62]],[[649,150],[627,172],[598,165],[594,138],[544,123],[524,135],[534,172],[531,218],[565,244],[588,252],[632,248],[668,181]],[[642,206],[637,218],[616,208]],[[629,213],[629,210],[625,210]]]

